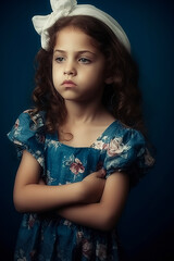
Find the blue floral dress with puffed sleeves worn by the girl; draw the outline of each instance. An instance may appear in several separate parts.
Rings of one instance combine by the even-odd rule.
[[[58,134],[45,132],[45,113],[30,117],[23,112],[8,134],[21,157],[26,149],[42,166],[48,186],[83,181],[104,167],[107,178],[126,172],[132,184],[152,166],[142,135],[113,122],[89,148],[74,148],[59,141]],[[74,224],[52,213],[25,213],[15,249],[18,261],[117,261],[116,229],[101,232]]]

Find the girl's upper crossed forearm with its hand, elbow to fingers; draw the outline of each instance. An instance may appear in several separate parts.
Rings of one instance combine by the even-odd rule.
[[[16,185],[13,195],[15,208],[20,212],[40,212],[77,203],[98,202],[105,183],[98,176],[100,172],[90,174],[82,182],[60,186],[47,186],[42,182]]]

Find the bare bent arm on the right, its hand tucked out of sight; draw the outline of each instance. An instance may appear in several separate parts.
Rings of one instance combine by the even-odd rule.
[[[128,191],[128,176],[115,172],[108,177],[100,202],[65,207],[58,214],[80,225],[110,231],[121,216]]]

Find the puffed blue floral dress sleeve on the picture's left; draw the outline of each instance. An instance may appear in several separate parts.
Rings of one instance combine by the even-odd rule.
[[[8,138],[15,145],[18,158],[22,157],[23,150],[27,150],[45,167],[44,113],[30,116],[29,112],[28,110],[20,114]]]

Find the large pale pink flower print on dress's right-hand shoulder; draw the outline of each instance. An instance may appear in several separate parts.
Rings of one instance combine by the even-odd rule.
[[[108,156],[114,157],[123,152],[126,147],[122,144],[122,138],[114,138],[111,140],[108,147],[105,147]]]

